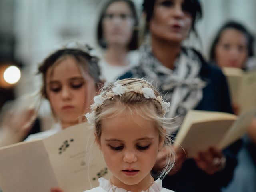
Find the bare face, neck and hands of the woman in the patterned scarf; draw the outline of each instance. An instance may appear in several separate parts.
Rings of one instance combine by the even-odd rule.
[[[188,35],[192,24],[190,14],[182,10],[183,0],[156,0],[154,13],[149,23],[151,32],[152,52],[154,56],[167,68],[174,69],[174,62],[180,53],[182,41]],[[186,149],[185,149],[186,150]],[[155,170],[162,170],[168,156],[168,150],[163,149],[158,154]],[[169,175],[176,174],[183,166],[186,155],[182,151],[176,151],[176,165]],[[213,166],[213,158],[220,158],[223,154],[212,147],[200,152],[194,160],[197,166],[208,174],[214,174],[219,170]]]

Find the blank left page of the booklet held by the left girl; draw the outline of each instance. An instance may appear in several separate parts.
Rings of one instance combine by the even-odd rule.
[[[58,186],[42,140],[0,150],[0,186],[3,192],[49,192]]]

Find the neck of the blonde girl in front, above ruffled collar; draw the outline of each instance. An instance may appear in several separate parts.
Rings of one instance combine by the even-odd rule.
[[[117,186],[118,188],[123,188],[126,191],[147,191],[150,186],[154,183],[154,179],[152,178],[151,174],[149,173],[144,179],[142,179],[138,184],[135,185],[128,185],[124,184],[115,176],[110,178],[110,182],[112,185]]]

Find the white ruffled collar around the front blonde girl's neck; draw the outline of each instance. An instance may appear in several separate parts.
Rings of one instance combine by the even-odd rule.
[[[101,177],[98,179],[99,183],[100,183],[100,187],[103,188],[104,190],[106,190],[107,192],[113,192],[112,190],[112,185],[109,182],[109,180],[106,180],[105,178]],[[113,185],[114,191],[115,192],[126,192],[125,189],[123,188],[118,188],[116,186]],[[160,192],[162,190],[162,180],[157,179],[156,181],[154,181],[154,183],[150,186],[150,188],[147,190],[148,192]],[[130,192],[130,191],[128,191]],[[144,191],[142,191],[144,192]]]

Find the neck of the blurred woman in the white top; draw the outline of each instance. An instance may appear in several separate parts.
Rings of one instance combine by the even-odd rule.
[[[125,66],[128,65],[127,54],[128,50],[123,46],[109,46],[105,52],[105,60],[113,66]]]

